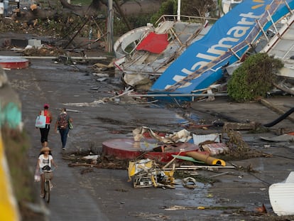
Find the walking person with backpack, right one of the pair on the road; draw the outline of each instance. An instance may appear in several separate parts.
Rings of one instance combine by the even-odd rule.
[[[58,119],[55,123],[55,132],[57,133],[59,131],[60,133],[60,139],[62,143],[62,150],[66,150],[66,142],[67,142],[67,135],[70,131],[69,122],[72,123],[72,118],[69,114],[67,114],[66,109],[62,108]]]

